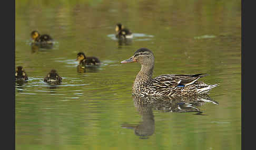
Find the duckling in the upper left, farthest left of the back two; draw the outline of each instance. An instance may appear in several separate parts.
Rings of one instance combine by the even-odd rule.
[[[38,44],[53,44],[53,39],[49,35],[40,35],[38,31],[32,31],[31,38]]]

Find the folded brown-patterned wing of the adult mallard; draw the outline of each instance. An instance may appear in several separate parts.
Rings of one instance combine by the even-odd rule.
[[[158,85],[162,88],[168,87],[185,87],[194,83],[201,77],[208,76],[208,74],[200,73],[200,74],[163,74],[158,76],[152,80],[153,85]]]

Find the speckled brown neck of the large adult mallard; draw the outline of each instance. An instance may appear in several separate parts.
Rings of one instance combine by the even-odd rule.
[[[133,83],[133,93],[140,93],[147,84],[152,80],[154,65],[141,66],[141,71],[137,74],[136,79]]]

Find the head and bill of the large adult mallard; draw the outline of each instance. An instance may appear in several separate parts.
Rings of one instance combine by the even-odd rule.
[[[152,66],[154,64],[154,55],[147,48],[138,49],[132,57],[121,61],[121,63],[140,62],[144,66]]]

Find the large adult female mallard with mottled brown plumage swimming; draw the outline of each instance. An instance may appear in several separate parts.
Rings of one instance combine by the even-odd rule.
[[[208,74],[163,74],[152,78],[154,69],[154,55],[146,48],[137,50],[134,55],[121,63],[139,62],[141,71],[137,74],[133,83],[132,92],[138,95],[199,95],[210,91],[219,84],[208,85],[202,81],[196,81]]]

